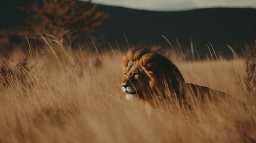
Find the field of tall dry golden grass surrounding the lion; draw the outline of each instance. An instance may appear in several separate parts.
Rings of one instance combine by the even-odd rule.
[[[1,57],[0,142],[256,142],[255,95],[242,58],[180,61],[186,82],[245,102],[146,112],[121,89],[127,51],[48,45]]]

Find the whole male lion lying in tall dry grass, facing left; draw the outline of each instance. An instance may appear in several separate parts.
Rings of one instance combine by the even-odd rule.
[[[200,100],[213,99],[211,95],[231,95],[206,86],[186,83],[178,67],[157,52],[147,48],[131,48],[123,59],[124,79],[121,86],[127,100],[134,98],[152,104],[176,98],[186,102],[188,95]]]

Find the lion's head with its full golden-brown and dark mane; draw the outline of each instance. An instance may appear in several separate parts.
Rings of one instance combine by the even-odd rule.
[[[181,93],[183,76],[168,58],[145,48],[132,48],[123,59],[125,77],[122,90],[126,98],[149,101],[166,94]]]

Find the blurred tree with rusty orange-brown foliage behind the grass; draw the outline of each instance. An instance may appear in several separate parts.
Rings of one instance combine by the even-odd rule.
[[[26,27],[22,27],[27,36],[40,36],[44,33],[56,36],[61,43],[71,47],[75,39],[103,24],[109,15],[96,11],[97,5],[91,1],[78,5],[76,0],[42,0],[42,6],[36,2],[28,8],[18,7],[26,11],[30,17],[25,19]]]

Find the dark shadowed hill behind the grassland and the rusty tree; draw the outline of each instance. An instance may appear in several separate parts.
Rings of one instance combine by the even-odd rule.
[[[16,10],[16,6],[26,6],[31,2],[33,1],[1,1],[0,29],[22,25],[26,14]],[[177,46],[177,39],[183,49],[190,48],[192,39],[200,55],[209,53],[206,45],[210,42],[216,51],[230,55],[226,44],[236,45],[235,50],[240,52],[245,43],[254,43],[256,39],[256,9],[252,8],[156,12],[98,5],[98,10],[110,14],[104,25],[91,33],[102,47],[109,47],[108,42],[115,45],[115,41],[126,46],[124,34],[132,45],[168,47],[161,36],[164,35],[174,46]],[[80,39],[79,42],[84,40]]]

